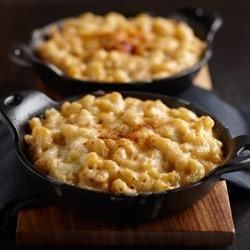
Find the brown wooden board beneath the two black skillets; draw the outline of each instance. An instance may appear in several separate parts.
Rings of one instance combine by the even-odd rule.
[[[196,83],[211,89],[207,68],[200,72]],[[118,223],[49,206],[20,211],[16,228],[16,242],[22,246],[219,246],[232,244],[234,236],[224,181],[192,207],[151,222]]]

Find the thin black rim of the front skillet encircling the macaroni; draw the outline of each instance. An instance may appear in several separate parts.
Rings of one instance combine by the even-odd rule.
[[[87,93],[87,94],[94,94],[94,95],[98,96],[98,95],[104,95],[104,94],[110,93],[110,92],[113,92],[113,91],[112,90],[110,90],[110,91],[102,91],[101,90],[101,91],[90,92],[90,93]],[[118,92],[121,93],[123,96],[136,97],[136,96],[142,95],[142,96],[144,96],[146,98],[151,97],[150,99],[152,99],[152,100],[160,99],[161,101],[163,101],[164,104],[166,104],[168,101],[174,101],[179,106],[187,107],[192,111],[195,110],[194,111],[195,113],[198,111],[200,113],[199,115],[209,115],[215,121],[216,127],[220,127],[221,129],[223,129],[223,132],[222,132],[223,136],[226,136],[227,139],[229,139],[229,140],[233,139],[229,129],[227,127],[225,127],[216,117],[214,117],[213,115],[210,115],[209,112],[207,112],[204,108],[201,108],[198,105],[194,105],[194,104],[192,104],[192,103],[190,103],[190,102],[188,102],[186,100],[171,97],[171,96],[167,96],[167,95],[148,93],[148,92],[142,92],[142,91],[118,91]],[[54,104],[50,105],[50,107],[58,107],[64,101],[76,100],[80,96],[84,96],[84,95],[87,95],[87,94],[85,93],[83,95],[77,95],[77,96],[64,98],[63,100],[54,102]],[[141,97],[136,97],[136,98],[141,99]],[[164,99],[165,99],[165,101],[164,101]],[[45,110],[43,110],[42,112],[44,112],[44,111]],[[42,114],[40,114],[40,115],[42,115]],[[26,124],[27,124],[27,122],[28,121],[26,121]],[[199,180],[197,182],[194,182],[194,183],[190,183],[190,184],[185,185],[185,186],[180,186],[178,188],[174,188],[174,189],[171,189],[171,190],[160,191],[160,192],[144,192],[144,193],[136,193],[136,194],[112,193],[112,192],[106,192],[106,191],[101,191],[101,190],[88,189],[88,188],[85,188],[85,187],[82,188],[82,187],[78,187],[76,185],[72,185],[72,184],[68,184],[68,183],[65,183],[65,182],[58,181],[55,178],[52,178],[52,177],[42,173],[29,160],[28,155],[22,149],[22,145],[21,145],[22,143],[24,143],[23,138],[20,138],[19,135],[16,136],[15,137],[15,149],[16,149],[18,158],[21,160],[23,165],[25,165],[25,167],[29,171],[31,171],[33,174],[35,174],[39,178],[42,178],[43,180],[49,182],[52,185],[55,185],[59,190],[61,188],[73,188],[73,189],[76,189],[76,190],[82,191],[82,192],[90,192],[90,193],[95,193],[95,194],[99,194],[99,195],[103,195],[103,196],[107,196],[107,197],[112,197],[113,199],[134,199],[135,197],[147,198],[147,197],[165,196],[165,195],[168,195],[168,194],[172,194],[172,193],[176,193],[176,192],[180,192],[180,191],[184,191],[184,190],[187,190],[187,189],[194,188],[194,187],[199,186],[202,183],[205,183],[206,181],[209,181],[209,180],[211,180],[213,178],[215,178],[215,179],[220,178],[219,176],[214,176],[213,175],[213,170],[212,170],[208,175],[203,177],[201,180]],[[230,154],[227,155],[225,157],[223,163],[221,165],[217,166],[215,169],[217,169],[219,167],[223,167],[224,164],[226,164],[231,159],[232,159],[232,155],[230,155]]]

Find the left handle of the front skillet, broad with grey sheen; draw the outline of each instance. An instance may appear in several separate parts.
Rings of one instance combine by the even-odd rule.
[[[16,138],[32,116],[39,115],[44,109],[55,104],[56,102],[42,92],[16,91],[0,99],[0,118]]]

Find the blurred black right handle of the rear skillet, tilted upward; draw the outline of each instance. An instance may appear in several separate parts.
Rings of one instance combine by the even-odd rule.
[[[187,23],[195,23],[202,27],[205,32],[204,39],[211,43],[215,34],[222,26],[222,17],[215,11],[207,11],[202,8],[180,8],[174,14],[180,16]]]

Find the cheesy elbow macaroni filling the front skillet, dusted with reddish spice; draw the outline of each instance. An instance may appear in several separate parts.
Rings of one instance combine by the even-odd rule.
[[[25,140],[38,169],[99,191],[170,190],[202,179],[223,161],[209,116],[117,92],[65,102],[29,125]]]

